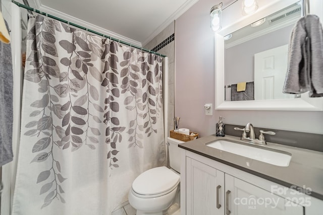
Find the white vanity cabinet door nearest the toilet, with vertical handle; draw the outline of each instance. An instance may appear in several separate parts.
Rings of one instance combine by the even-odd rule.
[[[224,173],[186,158],[186,214],[224,214]]]

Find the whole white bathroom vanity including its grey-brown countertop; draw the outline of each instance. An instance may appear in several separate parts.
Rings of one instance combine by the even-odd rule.
[[[247,158],[214,142],[278,153]],[[245,143],[239,137],[206,136],[179,145],[181,214],[293,214],[323,211],[323,153],[270,142]],[[230,147],[229,147],[230,148]],[[229,150],[230,151],[230,150]],[[251,153],[252,154],[252,153]],[[280,154],[282,158],[280,158]],[[267,157],[266,157],[267,156]],[[283,161],[284,159],[290,159]],[[290,156],[290,157],[288,157]],[[261,160],[262,159],[262,160]],[[275,160],[274,163],[271,163]],[[282,160],[282,162],[280,162]],[[275,163],[278,161],[277,163]]]

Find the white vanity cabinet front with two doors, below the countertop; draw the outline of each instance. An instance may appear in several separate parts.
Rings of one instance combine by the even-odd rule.
[[[195,153],[183,152],[182,215],[312,215],[320,214],[323,209],[319,199],[295,194],[290,188]],[[308,204],[310,207],[306,207]]]

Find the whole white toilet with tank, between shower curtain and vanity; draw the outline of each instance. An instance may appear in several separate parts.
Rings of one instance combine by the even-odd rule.
[[[132,183],[128,199],[136,215],[176,215],[179,211],[180,148],[183,141],[168,137],[170,166],[141,173]]]

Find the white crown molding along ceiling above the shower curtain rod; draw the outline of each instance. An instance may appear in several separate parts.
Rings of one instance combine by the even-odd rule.
[[[76,17],[73,17],[73,16],[70,16],[68,14],[65,14],[65,13],[62,13],[58,10],[55,10],[55,9],[52,9],[52,8],[49,8],[47,6],[44,6],[41,4],[40,0],[32,0],[32,2],[35,3],[36,5],[36,8],[44,13],[47,13],[47,14],[50,14],[50,15],[53,15],[53,16],[56,16],[56,17],[60,17],[64,20],[68,20],[72,23],[75,23],[75,24],[78,24],[80,26],[83,26],[85,28],[89,28],[93,31],[97,31],[97,32],[100,32],[104,35],[107,35],[107,36],[111,36],[111,37],[114,37],[116,39],[120,39],[120,40],[123,40],[125,42],[128,42],[128,43],[131,43],[133,45],[136,45],[136,46],[139,46],[141,47],[141,42],[138,42],[136,40],[133,40],[133,39],[130,39],[128,37],[125,37],[125,36],[122,36],[120,34],[117,34],[115,32],[112,32],[112,31],[109,31],[109,30],[106,30],[102,27],[99,27],[99,26],[96,26],[96,25],[93,25],[89,22],[86,22],[86,21],[83,21],[81,19],[78,19]]]

